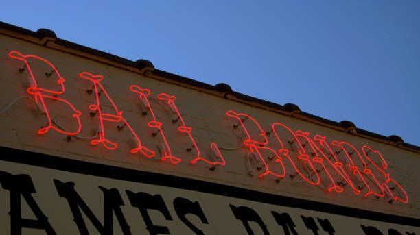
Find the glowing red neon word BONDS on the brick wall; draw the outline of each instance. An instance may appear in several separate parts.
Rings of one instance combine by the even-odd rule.
[[[344,187],[349,186],[355,195],[390,197],[391,202],[408,203],[406,190],[390,177],[386,171],[388,164],[380,151],[364,145],[360,152],[350,143],[329,142],[319,134],[311,137],[310,132],[294,132],[278,122],[272,123],[270,132],[264,132],[248,114],[229,110],[226,115],[237,120],[238,125],[233,126],[242,128],[246,136],[243,145],[262,162],[257,168],[263,170],[259,177],[271,175],[281,180],[287,175],[287,162],[296,172],[289,173],[290,177],[299,175],[305,182],[324,187],[328,192],[342,193]],[[268,141],[271,133],[275,143]]]

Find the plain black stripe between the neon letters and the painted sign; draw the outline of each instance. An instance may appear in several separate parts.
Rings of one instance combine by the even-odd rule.
[[[0,153],[0,160],[5,160],[8,162],[17,162],[32,166],[40,166],[60,171],[81,173],[84,175],[94,175],[116,180],[154,184],[172,188],[182,188],[202,193],[211,193],[214,195],[236,197],[249,201],[270,203],[279,206],[286,206],[289,208],[301,208],[305,210],[314,210],[330,214],[340,214],[347,217],[370,219],[374,221],[397,223],[415,227],[420,226],[420,219],[412,217],[402,217],[395,214],[385,214],[381,212],[350,208],[347,206],[338,206],[330,203],[273,195],[270,193],[262,193],[255,190],[248,190],[235,186],[227,186],[224,184],[216,184],[202,180],[194,180],[185,177],[164,175],[161,173],[152,173],[148,171],[138,171],[91,162],[82,162],[79,160],[60,158],[43,153],[34,153],[31,151],[11,149],[8,147],[0,147]]]

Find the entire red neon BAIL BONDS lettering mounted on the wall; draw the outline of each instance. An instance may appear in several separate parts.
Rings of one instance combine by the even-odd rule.
[[[10,58],[24,62],[24,67],[19,71],[23,72],[27,69],[30,75],[30,85],[27,92],[34,96],[38,108],[47,117],[47,125],[41,127],[38,134],[45,134],[50,129],[54,129],[54,131],[67,136],[78,136],[82,130],[80,121],[82,112],[62,97],[65,93],[65,79],[60,75],[58,69],[51,62],[37,55],[23,55],[18,51],[10,51],[8,55]],[[36,66],[47,68],[47,71],[50,72],[45,73],[45,76],[34,74]],[[40,69],[37,68],[36,71],[38,70]],[[58,88],[49,88],[51,80],[53,80],[51,77],[56,77],[56,82],[53,82],[53,84]],[[108,137],[109,127],[104,123],[115,123],[115,125],[120,123],[119,130],[126,127],[128,134],[135,143],[135,147],[130,149],[130,153],[141,153],[146,158],[154,158],[156,152],[141,143],[137,134],[139,130],[132,128],[132,125],[124,117],[123,111],[117,107],[108,94],[106,87],[102,84],[104,76],[84,71],[79,74],[79,77],[92,84],[91,93],[93,93],[94,100],[88,108],[92,111],[91,116],[95,117],[99,123],[97,137],[90,141],[91,145],[102,145],[110,151],[119,148],[119,145]],[[41,80],[43,82],[40,82]],[[159,134],[159,138],[161,138],[160,160],[162,162],[172,164],[178,164],[182,161],[189,162],[189,164],[203,162],[211,165],[213,170],[215,166],[226,166],[224,156],[222,156],[222,152],[216,143],[210,143],[206,152],[199,147],[199,142],[193,135],[194,129],[185,122],[176,105],[174,95],[159,93],[154,98],[156,102],[160,102],[162,106],[165,106],[176,116],[172,119],[172,124],[164,124],[161,120],[162,116],[156,115],[150,103],[152,90],[142,88],[137,84],[132,84],[128,90],[139,96],[140,103],[147,110],[145,113],[149,113],[151,116],[146,128],[156,130],[154,136]],[[46,100],[54,102],[48,102],[47,104]],[[105,108],[104,103],[107,104],[107,108]],[[74,131],[62,129],[55,125],[54,119],[51,118],[51,106],[60,105],[71,110],[71,113],[69,113],[71,122],[77,126]],[[408,203],[406,190],[390,176],[388,163],[382,153],[368,145],[363,145],[360,150],[351,143],[327,140],[326,136],[311,134],[303,130],[292,130],[288,125],[279,122],[272,123],[270,131],[265,132],[257,119],[249,114],[228,110],[226,116],[235,121],[233,129],[236,132],[242,132],[242,136],[244,136],[242,146],[248,149],[248,158],[253,157],[259,163],[255,167],[259,171],[259,178],[274,177],[276,182],[281,182],[286,178],[293,180],[294,177],[300,177],[303,182],[324,188],[329,193],[343,193],[346,188],[350,188],[354,195],[386,197],[390,199],[390,202]],[[168,130],[164,129],[164,127],[167,127],[166,125],[173,125],[176,127],[175,132],[187,138],[191,146],[187,152],[191,158],[188,158],[187,154],[180,156],[177,153],[179,155],[177,156],[174,153],[171,141],[167,138]],[[145,131],[145,129],[141,130],[141,132]],[[253,171],[253,169],[250,170]]]

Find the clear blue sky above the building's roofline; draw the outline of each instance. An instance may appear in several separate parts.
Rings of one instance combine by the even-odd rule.
[[[420,145],[420,1],[86,2],[0,21]]]

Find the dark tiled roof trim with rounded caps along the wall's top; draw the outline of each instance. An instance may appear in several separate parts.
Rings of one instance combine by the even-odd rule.
[[[250,97],[248,95],[244,95],[240,92],[235,92],[228,84],[217,84],[215,86],[206,84],[204,82],[198,82],[194,79],[189,79],[187,77],[182,77],[180,75],[175,75],[173,73],[168,73],[166,71],[161,71],[159,69],[154,69],[154,65],[152,62],[148,60],[137,60],[136,62],[132,60],[127,60],[125,58],[121,58],[117,55],[112,55],[110,53],[106,53],[104,51],[99,51],[97,49],[92,49],[90,47],[85,47],[82,45],[78,45],[74,42],[69,42],[67,40],[62,40],[57,38],[54,31],[49,29],[38,29],[38,31],[33,32],[28,29],[24,29],[22,27],[17,27],[15,25],[10,25],[8,23],[3,23],[0,21],[0,29],[5,31],[10,31],[12,33],[21,34],[23,36],[29,36],[30,38],[40,40],[40,44],[45,45],[45,40],[54,41],[55,45],[65,47],[68,49],[73,49],[80,53],[86,53],[89,55],[93,55],[99,58],[106,59],[110,62],[114,62],[120,64],[122,66],[128,66],[131,68],[138,69],[139,72],[144,73],[145,71],[149,71],[152,75],[163,77],[164,79],[172,80],[174,82],[178,82],[181,84],[187,84],[189,86],[194,86],[198,88],[202,88],[204,90],[211,90],[214,92],[220,92],[226,97],[226,95],[231,95],[235,97],[235,99],[240,99],[241,101],[246,101],[250,103],[257,103],[259,106],[265,106],[272,110],[276,110],[277,112],[281,112],[283,114],[289,114],[290,116],[295,116],[298,119],[305,119],[307,121],[312,121],[314,123],[318,123],[320,125],[326,125],[329,127],[333,127],[334,129],[340,129],[344,132],[349,132],[352,134],[356,134],[358,136],[365,136],[367,138],[373,138],[376,140],[380,140],[382,142],[388,143],[390,145],[395,145],[396,147],[401,147],[404,149],[408,149],[410,151],[415,151],[420,153],[420,147],[417,145],[411,145],[409,143],[404,143],[404,140],[399,136],[382,136],[380,134],[376,134],[373,132],[366,131],[364,129],[360,129],[354,125],[351,121],[341,121],[340,123],[336,121],[331,121],[329,119],[324,119],[320,116],[316,116],[313,114],[309,114],[307,112],[301,111],[299,106],[296,106],[293,103],[286,103],[284,106],[281,106],[277,103],[272,103],[270,101],[266,101],[263,99],[258,99],[255,97]],[[33,39],[32,39],[33,41]]]

